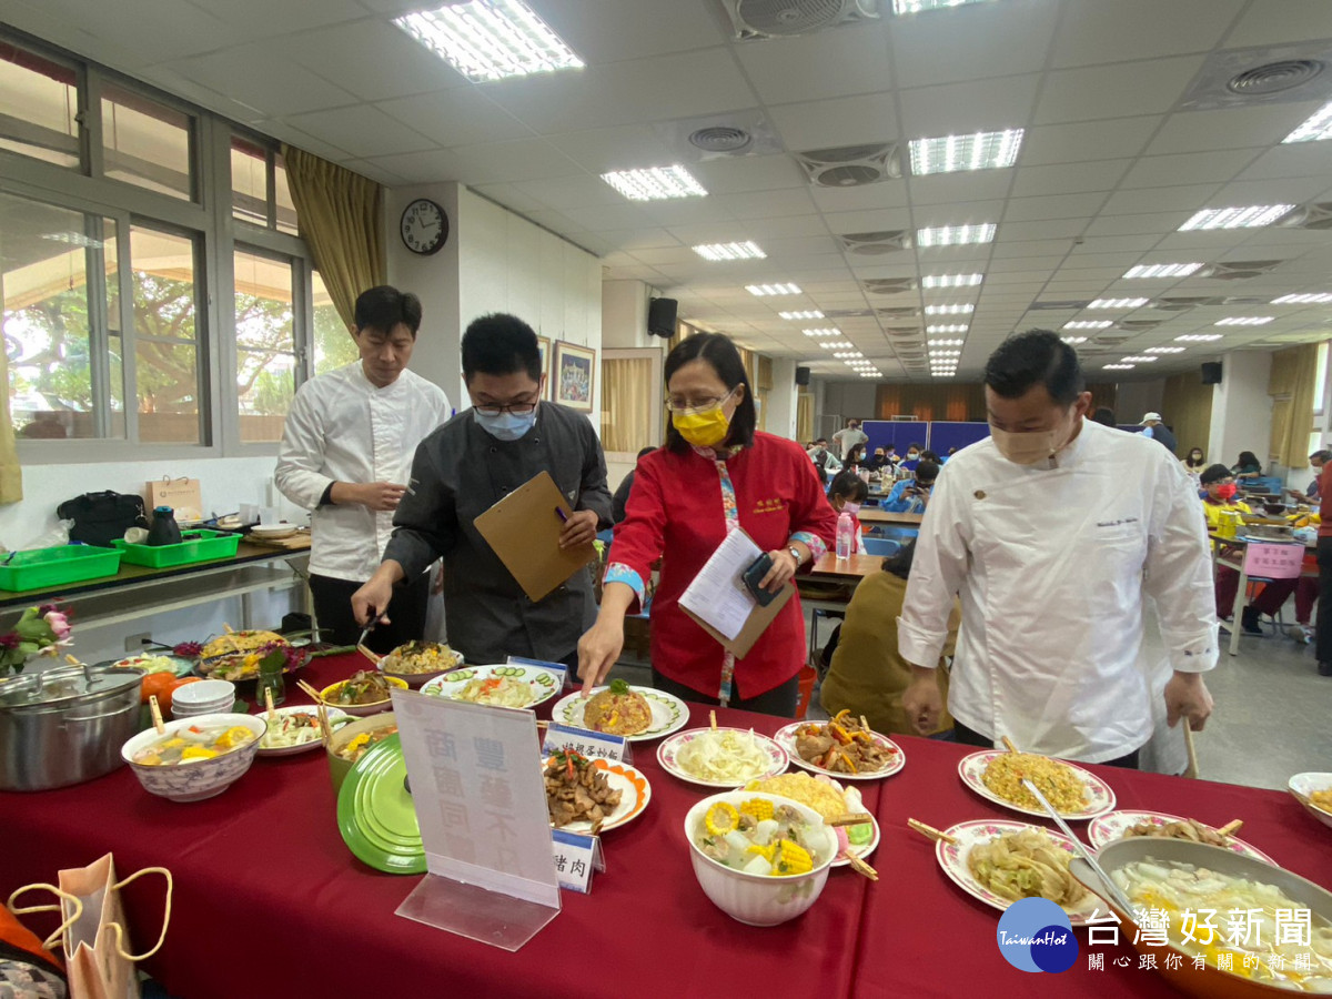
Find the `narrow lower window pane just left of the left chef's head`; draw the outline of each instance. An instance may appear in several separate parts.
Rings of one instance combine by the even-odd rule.
[[[236,250],[234,264],[240,438],[281,441],[297,384],[292,262]]]

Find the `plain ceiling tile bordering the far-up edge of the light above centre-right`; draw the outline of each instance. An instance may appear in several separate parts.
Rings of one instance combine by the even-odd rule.
[[[898,93],[904,139],[1020,128],[1031,120],[1038,73],[920,87]]]

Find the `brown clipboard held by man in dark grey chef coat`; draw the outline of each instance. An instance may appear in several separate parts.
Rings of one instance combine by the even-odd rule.
[[[591,542],[559,547],[565,521],[557,510],[573,513],[550,473],[538,472],[473,521],[533,603],[597,557]]]

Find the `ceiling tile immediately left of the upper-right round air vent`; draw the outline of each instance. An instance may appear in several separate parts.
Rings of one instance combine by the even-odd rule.
[[[1201,65],[1200,56],[1188,56],[1051,72],[1035,121],[1050,125],[1169,111]]]

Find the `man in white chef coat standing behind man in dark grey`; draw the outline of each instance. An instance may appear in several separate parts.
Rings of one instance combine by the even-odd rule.
[[[356,300],[354,322],[360,358],[296,393],[276,472],[282,496],[313,511],[310,594],[321,633],[337,645],[361,633],[352,594],[380,566],[417,445],[449,418],[444,390],[408,370],[421,300],[372,288]],[[372,633],[370,649],[422,637],[429,579],[418,573],[394,591],[390,623]]]

